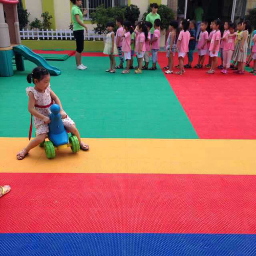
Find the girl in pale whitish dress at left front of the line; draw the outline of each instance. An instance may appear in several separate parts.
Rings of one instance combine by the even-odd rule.
[[[116,72],[116,60],[115,55],[118,54],[117,47],[115,44],[115,33],[114,33],[114,22],[109,22],[106,24],[106,29],[109,31],[108,35],[106,35],[106,41],[104,46],[103,53],[110,56],[110,69],[106,70],[111,74]]]

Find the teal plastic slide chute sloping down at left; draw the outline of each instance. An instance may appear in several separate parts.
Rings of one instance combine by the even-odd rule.
[[[39,54],[34,53],[31,49],[26,46],[19,45],[14,46],[13,51],[16,54],[22,55],[23,57],[27,58],[29,61],[35,63],[37,66],[42,66],[47,69],[51,75],[58,76],[61,74],[61,71],[51,65]]]

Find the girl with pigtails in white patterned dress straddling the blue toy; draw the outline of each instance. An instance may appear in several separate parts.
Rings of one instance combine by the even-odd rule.
[[[27,81],[35,84],[34,87],[26,88],[26,92],[29,96],[29,112],[31,116],[34,116],[34,125],[36,127],[36,137],[30,143],[17,154],[18,160],[23,160],[32,148],[38,146],[40,143],[44,142],[49,133],[49,123],[51,119],[49,115],[51,114],[50,107],[53,103],[60,106],[60,115],[64,126],[72,134],[76,135],[79,140],[81,150],[89,150],[89,146],[81,141],[80,134],[75,126],[74,121],[66,114],[62,109],[61,102],[57,95],[50,88],[50,74],[48,70],[42,67],[37,67],[29,74]],[[32,121],[32,119],[31,119]],[[32,123],[31,123],[32,125]],[[30,130],[29,139],[31,137],[32,126]]]

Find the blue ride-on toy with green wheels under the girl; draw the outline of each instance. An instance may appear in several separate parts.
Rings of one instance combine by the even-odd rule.
[[[71,147],[73,153],[77,153],[80,150],[80,144],[75,135],[70,135],[66,131],[60,115],[60,107],[57,104],[51,106],[51,122],[49,123],[48,139],[44,141],[40,146],[45,147],[46,156],[48,159],[53,159],[56,156],[55,148],[57,150],[64,150],[67,147]]]

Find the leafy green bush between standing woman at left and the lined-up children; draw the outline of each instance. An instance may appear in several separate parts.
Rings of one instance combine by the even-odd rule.
[[[104,5],[99,6],[95,12],[90,16],[92,18],[92,24],[96,24],[94,28],[95,33],[106,33],[106,24],[108,22],[115,22],[116,17],[124,18],[125,7],[109,7],[105,8]]]

